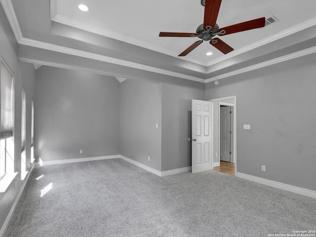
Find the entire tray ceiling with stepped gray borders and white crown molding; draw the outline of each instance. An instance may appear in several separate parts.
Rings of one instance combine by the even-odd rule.
[[[81,12],[78,2],[90,6]],[[207,83],[316,53],[316,0],[222,0],[219,27],[259,17],[279,21],[221,36],[224,55],[192,32],[203,22],[200,0],[0,0],[19,44],[21,62],[88,70],[120,79]],[[206,53],[212,51],[213,55]]]

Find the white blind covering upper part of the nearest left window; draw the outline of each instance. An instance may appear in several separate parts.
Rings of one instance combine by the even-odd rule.
[[[12,132],[12,84],[13,75],[1,62],[1,117],[0,139],[13,136]]]

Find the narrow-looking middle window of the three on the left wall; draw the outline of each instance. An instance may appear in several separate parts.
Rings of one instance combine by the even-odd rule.
[[[25,140],[26,140],[26,90],[22,86],[22,106],[21,106],[21,175],[22,180],[26,172],[26,154],[25,154]]]

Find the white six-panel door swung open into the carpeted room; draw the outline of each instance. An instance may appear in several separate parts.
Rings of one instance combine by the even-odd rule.
[[[212,167],[211,142],[212,102],[192,100],[192,172]]]

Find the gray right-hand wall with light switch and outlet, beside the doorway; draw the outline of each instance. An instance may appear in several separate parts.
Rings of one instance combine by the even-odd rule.
[[[237,172],[316,191],[315,62],[311,54],[206,84],[206,100],[237,96]]]

